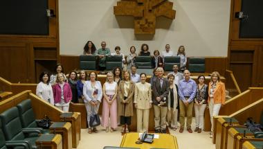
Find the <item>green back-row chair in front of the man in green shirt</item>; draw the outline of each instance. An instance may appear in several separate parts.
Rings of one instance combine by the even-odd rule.
[[[123,61],[123,56],[119,55],[107,55],[106,56],[106,70],[112,70],[114,67],[120,67],[122,68],[122,61]]]

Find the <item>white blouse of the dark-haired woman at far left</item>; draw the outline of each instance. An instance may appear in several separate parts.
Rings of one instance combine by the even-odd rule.
[[[51,103],[51,105],[54,105],[53,90],[50,84],[46,85],[44,82],[39,82],[36,94],[48,103]]]

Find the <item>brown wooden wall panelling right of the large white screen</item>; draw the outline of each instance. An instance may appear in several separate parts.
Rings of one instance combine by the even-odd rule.
[[[239,37],[240,19],[235,18],[235,12],[239,12],[241,10],[241,7],[242,0],[231,1],[227,68],[231,70],[231,68],[235,67],[235,71],[231,71],[233,71],[238,80],[244,80],[244,83],[238,82],[240,88],[244,90],[248,87],[263,86],[263,38]],[[237,65],[233,63],[238,63],[239,69],[237,69]],[[249,71],[247,68],[248,64],[251,64],[251,68]],[[244,70],[243,67],[246,67],[246,70]],[[251,78],[246,78],[248,76],[251,76]]]

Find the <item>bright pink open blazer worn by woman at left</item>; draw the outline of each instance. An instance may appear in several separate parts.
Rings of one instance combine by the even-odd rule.
[[[53,87],[54,94],[54,103],[60,103],[61,101],[61,87],[59,84],[54,85]],[[63,87],[63,95],[65,103],[69,103],[72,99],[71,86],[69,86],[68,82],[65,82]]]

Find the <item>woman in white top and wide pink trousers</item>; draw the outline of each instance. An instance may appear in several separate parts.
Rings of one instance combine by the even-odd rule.
[[[106,132],[109,132],[109,118],[111,121],[111,132],[118,127],[117,124],[117,96],[118,85],[114,82],[114,73],[109,71],[107,73],[107,79],[103,85],[103,105],[102,105],[102,127],[106,128]]]

